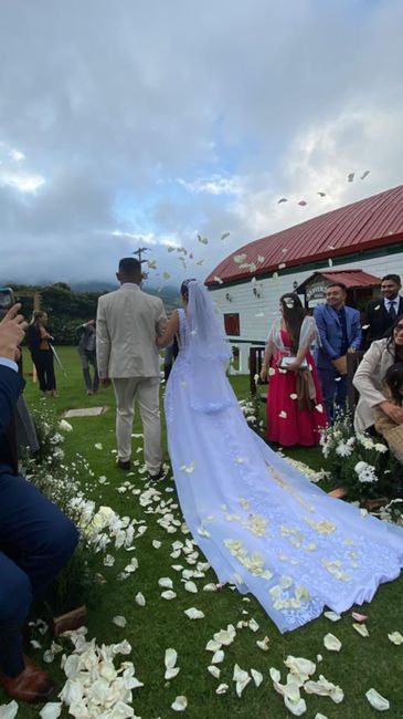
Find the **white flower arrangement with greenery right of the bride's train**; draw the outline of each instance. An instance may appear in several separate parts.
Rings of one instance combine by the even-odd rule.
[[[403,466],[381,437],[356,434],[349,417],[327,427],[320,436],[326,469],[349,500],[393,498],[403,487]]]

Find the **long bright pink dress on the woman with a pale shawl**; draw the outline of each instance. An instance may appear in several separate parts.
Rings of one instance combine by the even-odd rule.
[[[318,409],[299,409],[298,400],[293,398],[296,394],[296,373],[279,372],[278,369],[282,356],[291,354],[291,342],[285,330],[282,330],[282,340],[284,346],[289,347],[289,352],[276,351],[272,357],[271,366],[275,374],[269,376],[267,390],[267,439],[283,447],[293,445],[315,447],[319,444],[319,429],[326,425],[317,368],[312,355],[308,352],[306,358],[308,365],[311,366]]]

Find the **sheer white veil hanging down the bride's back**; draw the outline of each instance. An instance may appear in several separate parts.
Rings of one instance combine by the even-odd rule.
[[[191,406],[197,411],[219,411],[236,404],[225,375],[231,347],[205,285],[192,280],[188,286],[185,358]]]

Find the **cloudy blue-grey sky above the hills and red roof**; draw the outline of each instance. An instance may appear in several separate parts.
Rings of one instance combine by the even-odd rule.
[[[0,283],[138,247],[153,285],[203,279],[401,184],[402,27],[401,0],[2,0]]]

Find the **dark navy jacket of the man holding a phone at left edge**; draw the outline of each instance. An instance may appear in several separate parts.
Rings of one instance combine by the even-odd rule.
[[[9,429],[24,384],[18,372],[0,365],[0,475],[17,469],[15,447]]]

